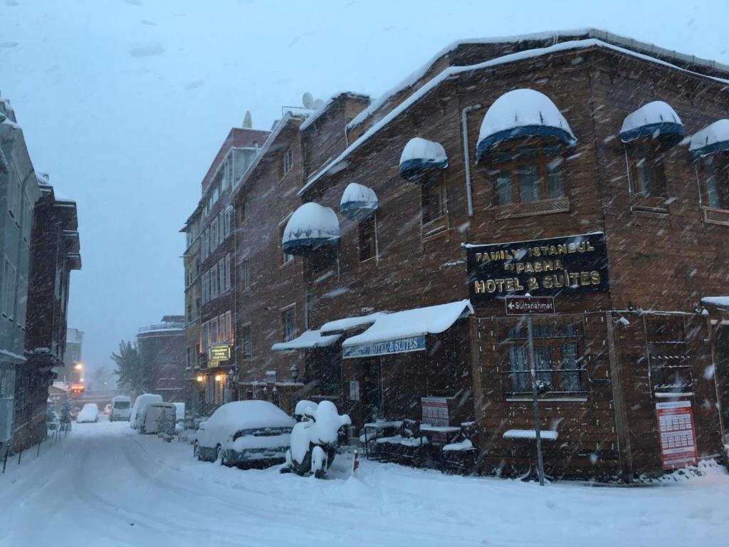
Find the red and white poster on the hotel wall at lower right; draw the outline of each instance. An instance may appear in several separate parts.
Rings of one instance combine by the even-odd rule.
[[[690,400],[655,403],[663,469],[696,465],[696,435]]]

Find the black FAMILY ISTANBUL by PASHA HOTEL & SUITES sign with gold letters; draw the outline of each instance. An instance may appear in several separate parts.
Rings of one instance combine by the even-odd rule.
[[[505,296],[608,292],[602,232],[467,247],[471,302]]]

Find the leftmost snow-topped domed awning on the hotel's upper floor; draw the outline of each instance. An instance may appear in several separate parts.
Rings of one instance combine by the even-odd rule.
[[[339,220],[329,207],[319,203],[304,203],[284,228],[281,245],[289,255],[305,255],[314,247],[334,245],[339,241]]]

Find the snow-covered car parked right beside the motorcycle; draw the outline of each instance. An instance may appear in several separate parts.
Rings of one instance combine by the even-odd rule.
[[[227,403],[197,432],[195,457],[223,465],[274,465],[286,461],[295,420],[262,400]]]

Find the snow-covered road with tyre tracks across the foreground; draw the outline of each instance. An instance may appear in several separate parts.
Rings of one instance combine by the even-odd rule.
[[[74,424],[0,475],[0,546],[687,546],[729,538],[729,476],[534,484],[346,459],[327,481],[222,468],[125,422]]]

